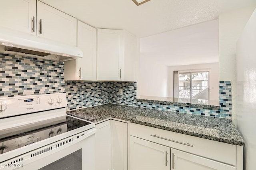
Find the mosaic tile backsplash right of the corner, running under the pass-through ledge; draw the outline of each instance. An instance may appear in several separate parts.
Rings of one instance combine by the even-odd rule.
[[[119,95],[123,89],[123,95]],[[110,103],[133,105],[150,109],[205,115],[231,119],[232,117],[231,82],[220,81],[220,109],[186,105],[166,105],[162,103],[141,103],[136,101],[136,82],[110,82]]]

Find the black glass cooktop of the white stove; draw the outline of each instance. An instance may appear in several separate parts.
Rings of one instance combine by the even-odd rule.
[[[24,126],[0,130],[0,154],[84,127],[90,122],[62,116]]]

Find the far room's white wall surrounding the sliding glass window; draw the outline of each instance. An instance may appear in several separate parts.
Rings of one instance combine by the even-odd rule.
[[[219,63],[179,65],[168,67],[168,96],[173,97],[173,71],[209,71],[210,100],[219,100]]]

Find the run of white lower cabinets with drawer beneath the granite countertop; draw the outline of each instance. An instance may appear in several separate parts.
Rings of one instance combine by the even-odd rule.
[[[95,127],[95,170],[242,170],[242,146],[118,120]]]

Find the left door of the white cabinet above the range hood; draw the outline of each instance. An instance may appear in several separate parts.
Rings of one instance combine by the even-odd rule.
[[[1,26],[36,35],[36,0],[0,0],[0,6]]]

